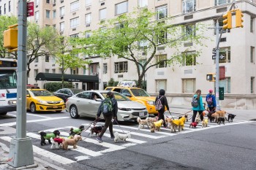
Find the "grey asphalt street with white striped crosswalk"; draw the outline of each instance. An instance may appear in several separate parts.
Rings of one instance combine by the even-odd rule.
[[[191,112],[190,112],[191,114]],[[0,117],[0,144],[10,146],[15,136],[15,115],[10,112]],[[177,118],[179,114],[172,114]],[[191,115],[189,115],[190,117]],[[113,131],[130,132],[127,142],[110,140],[109,131],[97,142],[95,134],[83,131],[83,140],[78,148],[51,150],[50,144],[40,145],[39,131],[52,132],[58,129],[61,136],[68,136],[71,127],[89,127],[94,119],[80,117],[71,119],[67,112],[27,114],[27,136],[33,143],[34,159],[48,169],[255,169],[256,131],[254,121],[235,118],[225,125],[208,123],[202,128],[189,128],[176,134],[161,128],[151,133],[147,127],[138,130],[138,123],[120,123]],[[100,121],[97,125],[103,125]],[[3,130],[4,129],[4,130]],[[4,158],[1,158],[4,159]],[[5,158],[7,159],[7,158]],[[1,169],[0,164],[0,169]]]

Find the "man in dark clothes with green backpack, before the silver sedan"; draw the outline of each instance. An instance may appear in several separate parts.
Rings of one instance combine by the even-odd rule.
[[[115,136],[113,134],[112,118],[114,120],[116,120],[117,111],[118,111],[118,106],[117,106],[116,98],[114,97],[114,94],[111,91],[109,91],[107,93],[107,98],[105,98],[105,100],[102,101],[102,104],[100,104],[98,112],[97,112],[96,121],[99,120],[99,116],[101,114],[103,114],[103,116],[105,118],[105,125],[102,128],[101,133],[99,134],[99,136],[96,139],[98,142],[103,142],[102,136],[105,133],[105,131],[107,130],[107,128],[109,128],[109,131],[110,131],[110,136],[111,136],[110,139],[115,138]]]

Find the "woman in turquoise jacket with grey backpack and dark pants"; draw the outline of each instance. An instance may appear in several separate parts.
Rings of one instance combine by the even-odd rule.
[[[201,96],[201,90],[198,89],[195,92],[195,95],[193,96],[192,99],[192,110],[193,110],[193,117],[192,117],[192,123],[195,122],[195,117],[197,115],[197,112],[200,115],[201,121],[203,120],[203,111],[205,110],[203,107],[203,98]]]

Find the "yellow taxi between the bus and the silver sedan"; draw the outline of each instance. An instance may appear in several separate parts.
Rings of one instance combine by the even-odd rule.
[[[30,88],[26,90],[26,109],[30,112],[56,111],[65,109],[64,101],[45,89]]]

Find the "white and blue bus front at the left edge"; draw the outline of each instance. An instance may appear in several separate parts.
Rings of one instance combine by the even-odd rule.
[[[0,58],[0,115],[16,111],[17,61]]]

